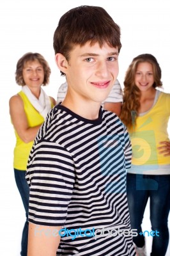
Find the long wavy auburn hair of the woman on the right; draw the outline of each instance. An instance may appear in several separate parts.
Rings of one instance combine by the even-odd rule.
[[[139,63],[148,62],[153,67],[153,88],[162,87],[161,69],[157,59],[151,54],[141,54],[132,60],[129,65],[124,81],[123,90],[123,105],[121,109],[121,121],[125,124],[129,131],[133,131],[135,127],[135,120],[138,116],[140,108],[141,92],[135,85],[135,73]]]

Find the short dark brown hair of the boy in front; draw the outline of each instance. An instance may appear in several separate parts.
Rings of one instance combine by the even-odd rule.
[[[111,47],[121,49],[120,27],[102,7],[79,6],[66,12],[59,20],[54,32],[55,54],[61,53],[69,60],[74,45],[91,45],[98,42],[100,47],[107,42]],[[65,76],[61,72],[61,76]]]

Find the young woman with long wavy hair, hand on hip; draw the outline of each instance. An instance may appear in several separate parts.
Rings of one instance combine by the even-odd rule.
[[[169,241],[170,143],[167,123],[170,94],[161,92],[161,70],[151,54],[132,60],[124,81],[121,120],[132,143],[132,167],[127,170],[127,196],[136,251],[146,255],[141,230],[144,209],[150,198],[151,229],[155,231],[151,255],[164,256]],[[145,234],[146,236],[146,234]]]

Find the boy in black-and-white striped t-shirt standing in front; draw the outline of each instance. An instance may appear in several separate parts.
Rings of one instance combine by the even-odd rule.
[[[100,107],[118,76],[120,49],[120,28],[101,7],[73,8],[59,20],[54,51],[68,90],[29,156],[29,256],[135,255],[130,141],[118,116]]]

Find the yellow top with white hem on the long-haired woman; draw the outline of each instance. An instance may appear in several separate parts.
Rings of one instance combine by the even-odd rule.
[[[170,94],[161,92],[157,102],[142,116],[137,116],[132,143],[132,168],[129,173],[170,174],[170,156],[159,154],[160,141],[169,141],[167,124]]]

